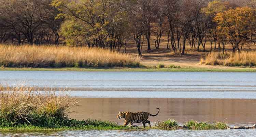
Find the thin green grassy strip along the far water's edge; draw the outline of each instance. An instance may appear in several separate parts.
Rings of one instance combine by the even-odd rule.
[[[140,68],[6,68],[0,67],[0,71],[130,71],[130,72],[256,72],[256,68],[236,67],[140,67]]]

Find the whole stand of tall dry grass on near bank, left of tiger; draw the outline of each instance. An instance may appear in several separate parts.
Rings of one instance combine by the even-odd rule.
[[[34,87],[0,85],[0,122],[38,122],[37,118],[66,118],[76,100],[65,91],[39,91]],[[35,116],[36,115],[36,116]],[[42,121],[41,121],[42,122]],[[0,125],[3,123],[0,123]]]

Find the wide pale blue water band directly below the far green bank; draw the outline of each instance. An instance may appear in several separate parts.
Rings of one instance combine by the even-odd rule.
[[[256,91],[250,72],[0,71],[0,83],[83,91]]]

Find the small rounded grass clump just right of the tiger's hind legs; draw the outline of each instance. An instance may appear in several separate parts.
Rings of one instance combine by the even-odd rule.
[[[180,126],[178,125],[176,120],[169,119],[166,121],[161,121],[156,123],[157,129],[164,129],[164,130],[176,130],[180,129]]]

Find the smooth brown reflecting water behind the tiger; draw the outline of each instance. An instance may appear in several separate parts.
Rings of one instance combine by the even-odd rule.
[[[229,124],[255,124],[256,100],[244,99],[144,99],[144,98],[79,98],[79,106],[71,114],[76,119],[109,120],[123,124],[116,118],[119,111],[146,111],[156,114],[157,120],[176,119],[180,123],[188,120],[224,121]]]

